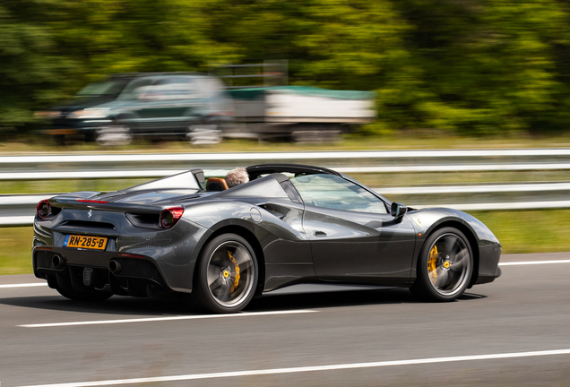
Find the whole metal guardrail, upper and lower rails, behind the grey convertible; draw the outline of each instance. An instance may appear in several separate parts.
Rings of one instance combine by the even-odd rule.
[[[453,159],[453,163],[443,163]],[[480,163],[481,159],[487,162]],[[489,160],[490,159],[490,160]],[[519,150],[362,150],[239,153],[168,153],[168,154],[48,154],[0,157],[0,181],[34,179],[153,178],[173,175],[187,168],[203,165],[206,176],[221,176],[227,168],[246,162],[311,162],[345,174],[413,173],[413,172],[494,172],[570,170],[570,149]],[[410,162],[411,161],[411,162]],[[491,162],[488,162],[491,161]],[[534,162],[531,162],[534,161]],[[181,165],[181,163],[183,163]],[[399,164],[394,164],[399,163]],[[430,164],[431,163],[431,164]],[[434,164],[437,163],[437,164]],[[144,168],[151,164],[151,167]],[[188,165],[191,164],[191,165]],[[351,164],[356,164],[352,165]],[[370,165],[372,164],[372,165]],[[386,165],[387,164],[387,165]],[[112,170],[108,170],[110,166]],[[171,166],[176,165],[175,168]],[[49,166],[50,170],[39,171]],[[160,168],[164,166],[166,168]],[[168,168],[170,166],[170,168]],[[138,167],[138,168],[137,168]],[[183,168],[178,168],[183,167]],[[226,168],[227,167],[227,168]],[[53,168],[56,168],[54,170]],[[89,169],[88,169],[89,168]],[[99,169],[97,169],[99,168]],[[436,185],[377,188],[384,195],[534,193],[570,191],[570,182]],[[30,225],[39,200],[56,193],[33,195],[0,195],[0,227]],[[488,202],[413,205],[410,207],[449,207],[462,211],[531,210],[570,208],[570,201]],[[528,199],[528,198],[526,198]],[[412,202],[412,201],[410,201]],[[6,211],[9,209],[10,211]]]

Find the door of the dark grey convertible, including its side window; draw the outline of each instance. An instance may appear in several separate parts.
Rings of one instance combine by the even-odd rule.
[[[303,228],[323,280],[402,284],[410,279],[415,230],[376,194],[334,175],[291,179],[305,202]]]

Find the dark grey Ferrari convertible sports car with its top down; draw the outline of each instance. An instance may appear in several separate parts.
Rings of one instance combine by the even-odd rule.
[[[307,284],[452,301],[501,274],[497,237],[467,213],[410,209],[326,168],[246,170],[249,183],[229,189],[192,169],[41,201],[34,273],[75,300],[180,297],[214,313]]]

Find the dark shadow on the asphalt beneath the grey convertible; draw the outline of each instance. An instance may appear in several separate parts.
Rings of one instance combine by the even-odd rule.
[[[459,300],[475,301],[486,296],[466,293]],[[321,309],[361,305],[393,305],[422,304],[407,288],[390,288],[377,290],[334,291],[326,293],[309,293],[279,295],[255,298],[247,305],[244,312],[272,312],[299,309]],[[46,309],[61,312],[77,312],[83,314],[109,314],[133,316],[165,316],[208,314],[182,299],[151,299],[113,296],[102,302],[73,301],[54,296],[5,297],[0,298],[0,305],[12,305],[33,309]]]

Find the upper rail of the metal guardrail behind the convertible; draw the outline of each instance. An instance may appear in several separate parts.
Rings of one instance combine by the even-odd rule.
[[[451,161],[453,160],[453,161]],[[570,149],[358,150],[1,156],[0,181],[168,176],[189,168],[310,163],[342,173],[570,170]],[[112,168],[110,168],[112,167]]]

